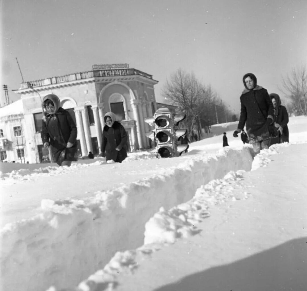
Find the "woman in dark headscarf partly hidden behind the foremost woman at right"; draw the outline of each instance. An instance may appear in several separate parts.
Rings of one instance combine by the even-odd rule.
[[[281,144],[289,142],[288,122],[289,116],[285,106],[282,106],[280,97],[276,93],[271,93],[270,98],[274,106],[274,125],[277,128],[278,136],[275,143]]]

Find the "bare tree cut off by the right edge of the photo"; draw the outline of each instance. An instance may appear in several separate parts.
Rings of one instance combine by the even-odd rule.
[[[292,101],[296,115],[307,115],[307,71],[306,65],[300,69],[293,68],[291,74],[282,77],[281,90]]]

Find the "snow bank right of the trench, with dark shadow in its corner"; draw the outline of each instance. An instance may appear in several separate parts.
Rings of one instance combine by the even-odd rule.
[[[255,171],[212,181],[190,202],[162,209],[147,223],[150,228],[162,220],[173,224],[164,230],[182,234],[190,226],[190,235],[172,241],[174,236],[161,232],[150,239],[156,243],[117,253],[103,270],[70,290],[305,291],[307,144],[273,147],[280,154],[272,155],[272,148],[262,151]],[[203,214],[197,229],[184,223],[182,216],[197,213]],[[161,237],[168,243],[159,243]]]

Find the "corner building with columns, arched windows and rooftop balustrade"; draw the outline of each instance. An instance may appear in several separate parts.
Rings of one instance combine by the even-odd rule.
[[[128,151],[150,148],[151,140],[146,137],[150,129],[144,119],[157,110],[153,88],[157,83],[152,75],[130,69],[127,64],[93,65],[92,71],[22,83],[15,92],[21,94],[23,107],[25,160],[29,163],[52,161],[40,136],[41,100],[47,94],[57,95],[61,107],[76,121],[80,157],[87,156],[89,151],[99,154],[103,117],[107,112],[115,113],[126,129]]]

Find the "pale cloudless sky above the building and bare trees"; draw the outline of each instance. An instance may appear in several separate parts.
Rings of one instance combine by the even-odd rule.
[[[157,101],[178,68],[193,71],[239,111],[242,77],[255,73],[269,93],[307,61],[307,2],[301,0],[1,2],[2,76],[25,81],[129,63],[152,74]],[[1,90],[1,104],[4,92]]]

